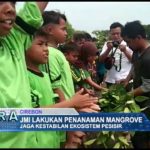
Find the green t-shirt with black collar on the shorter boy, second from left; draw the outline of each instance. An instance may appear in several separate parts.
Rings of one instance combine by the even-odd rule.
[[[30,87],[32,91],[33,105],[47,106],[54,104],[55,95],[53,93],[48,74],[41,72],[37,74],[34,71],[28,71]],[[36,92],[35,92],[36,91]],[[34,98],[33,94],[36,98]],[[35,102],[35,99],[37,102]],[[36,139],[38,148],[60,148],[59,132],[56,131],[37,131]]]

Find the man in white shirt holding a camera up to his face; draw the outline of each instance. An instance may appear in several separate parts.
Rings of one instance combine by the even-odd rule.
[[[123,26],[115,22],[110,26],[110,41],[107,41],[99,56],[107,69],[105,82],[107,87],[126,78],[131,69],[132,50],[121,37]],[[111,57],[109,57],[111,56]]]

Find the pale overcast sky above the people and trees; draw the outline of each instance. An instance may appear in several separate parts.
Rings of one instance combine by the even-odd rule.
[[[23,2],[17,2],[17,10]],[[64,13],[75,30],[109,30],[113,22],[150,24],[150,2],[49,2],[46,10]]]

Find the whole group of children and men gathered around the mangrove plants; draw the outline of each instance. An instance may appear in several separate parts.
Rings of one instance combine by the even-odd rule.
[[[0,107],[75,108],[78,112],[98,112],[94,91],[112,84],[128,85],[132,94],[150,93],[149,49],[144,27],[139,21],[124,27],[110,26],[110,39],[99,55],[88,34],[74,34],[66,42],[67,18],[56,11],[44,11],[48,2],[26,2],[16,15],[15,2],[0,2]],[[118,43],[118,44],[116,44]],[[98,61],[114,58],[102,82],[94,80]],[[149,100],[142,106],[149,105]],[[142,107],[141,106],[141,107]],[[149,111],[146,110],[149,116]],[[86,134],[82,131],[1,132],[1,148],[77,148]],[[21,141],[20,141],[21,139]],[[148,148],[149,132],[137,132],[137,148]]]

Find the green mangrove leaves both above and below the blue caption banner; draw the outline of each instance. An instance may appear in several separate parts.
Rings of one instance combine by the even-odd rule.
[[[136,97],[136,101],[143,102],[147,100],[144,96]],[[102,112],[141,112],[140,107],[136,104],[133,95],[126,92],[123,85],[113,85],[108,91],[101,93],[99,105]],[[133,148],[130,137],[134,132],[116,132],[100,131],[96,134],[90,148]],[[86,141],[87,142],[87,141]]]

